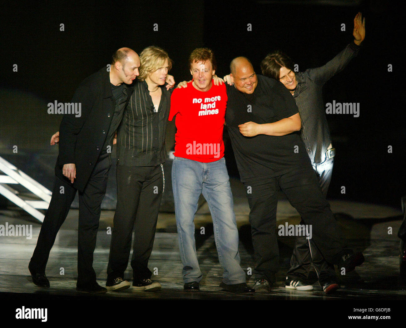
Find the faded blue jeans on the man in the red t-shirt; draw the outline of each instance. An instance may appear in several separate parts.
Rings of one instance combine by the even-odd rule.
[[[201,193],[212,214],[218,260],[224,269],[223,282],[227,285],[245,282],[245,272],[240,267],[238,230],[225,159],[201,163],[175,157],[172,165],[172,188],[184,283],[199,282],[202,278],[193,223]]]

